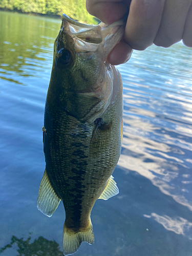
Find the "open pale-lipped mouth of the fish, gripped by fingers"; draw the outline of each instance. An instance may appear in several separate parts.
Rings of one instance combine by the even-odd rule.
[[[103,61],[106,61],[111,50],[123,37],[124,27],[123,19],[110,25],[100,23],[95,26],[82,24],[66,14],[62,15],[61,30],[71,36],[75,51],[77,53],[100,52]]]

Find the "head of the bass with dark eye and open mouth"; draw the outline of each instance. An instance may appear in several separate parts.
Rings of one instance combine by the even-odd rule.
[[[106,59],[123,31],[122,20],[94,26],[63,14],[50,87],[66,113],[82,122],[102,117],[113,95],[113,70]]]

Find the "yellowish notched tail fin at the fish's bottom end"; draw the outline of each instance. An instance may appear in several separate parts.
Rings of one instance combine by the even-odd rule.
[[[91,224],[83,230],[78,232],[73,231],[70,228],[67,228],[65,223],[63,227],[63,254],[70,255],[75,253],[82,242],[87,242],[89,244],[94,243],[94,234],[93,234],[93,226]]]

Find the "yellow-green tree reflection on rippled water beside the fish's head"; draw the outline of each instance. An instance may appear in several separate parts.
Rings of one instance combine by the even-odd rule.
[[[0,15],[0,78],[27,85],[29,76],[52,66],[52,42],[60,20],[2,12]],[[14,26],[12,26],[14,25]],[[49,53],[49,54],[48,54]],[[45,66],[45,61],[50,63]],[[49,72],[50,73],[50,72]]]

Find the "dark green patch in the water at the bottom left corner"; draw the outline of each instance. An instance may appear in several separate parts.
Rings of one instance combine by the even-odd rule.
[[[44,237],[39,237],[35,239],[33,243],[30,243],[31,237],[27,240],[23,238],[18,239],[12,236],[11,243],[7,244],[0,249],[0,254],[4,252],[7,248],[11,248],[14,244],[18,246],[17,256],[62,256],[62,251],[59,249],[59,244],[55,241],[49,241]]]

